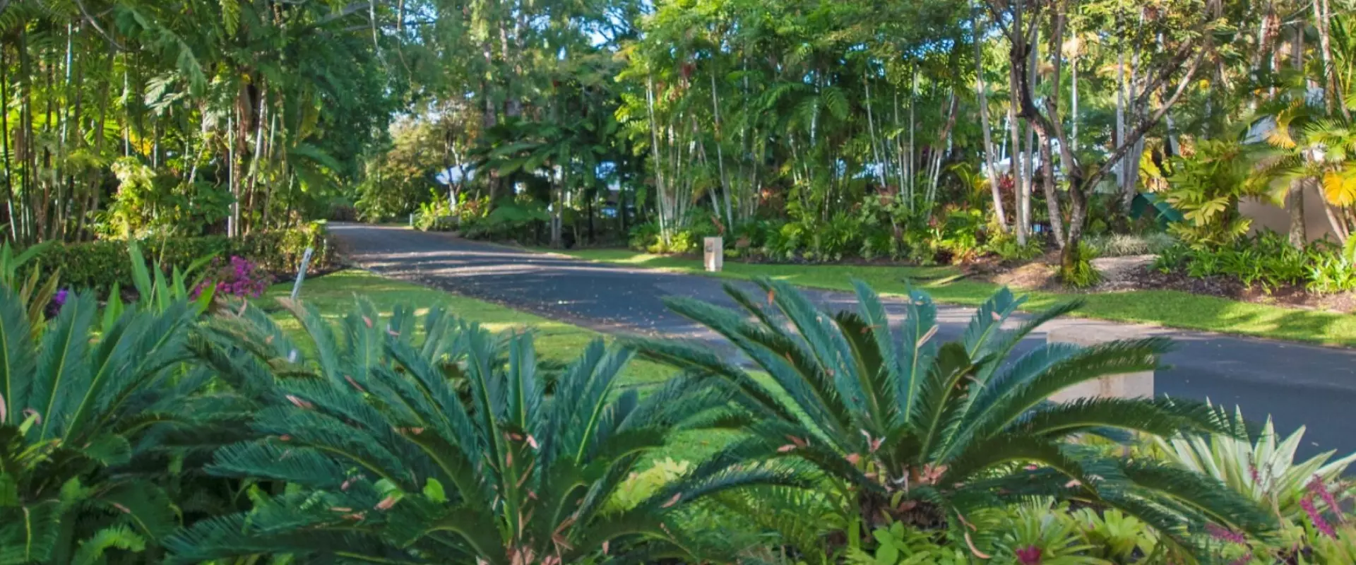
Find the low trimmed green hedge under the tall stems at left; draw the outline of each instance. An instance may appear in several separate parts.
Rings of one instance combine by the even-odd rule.
[[[214,255],[225,260],[235,255],[275,274],[297,272],[306,247],[315,249],[308,270],[334,267],[335,249],[323,224],[251,233],[239,238],[205,236],[141,241],[141,252],[146,260],[159,260],[165,270],[187,267],[206,256]],[[35,261],[43,276],[50,276],[60,268],[64,287],[107,290],[113,283],[119,283],[123,289],[133,285],[126,241],[52,245],[38,253]]]

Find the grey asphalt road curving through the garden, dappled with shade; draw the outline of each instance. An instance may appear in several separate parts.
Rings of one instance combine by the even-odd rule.
[[[677,336],[725,348],[719,336],[660,302],[666,295],[683,295],[732,306],[720,279],[589,263],[404,228],[335,224],[331,229],[355,263],[385,276],[598,331]],[[846,293],[807,294],[827,309],[854,304]],[[887,309],[892,316],[902,310],[899,304]],[[971,312],[941,306],[938,337],[959,337]],[[1063,318],[1043,329],[1106,325],[1124,327]],[[1135,328],[1172,337],[1177,344],[1165,359],[1172,369],[1155,377],[1158,394],[1239,405],[1249,419],[1269,413],[1283,434],[1307,425],[1302,447],[1306,454],[1356,451],[1356,350]],[[1020,350],[1044,340],[1045,333],[1037,332]]]

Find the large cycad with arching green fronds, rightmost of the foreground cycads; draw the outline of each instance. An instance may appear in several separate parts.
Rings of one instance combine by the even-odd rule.
[[[1022,304],[1008,290],[986,301],[960,340],[941,343],[937,312],[919,291],[891,327],[881,299],[857,283],[857,312],[830,314],[789,285],[759,280],[762,295],[727,285],[742,310],[673,298],[670,308],[736,346],[773,381],[763,386],[709,348],[637,341],[643,355],[689,373],[724,377],[753,415],[751,438],[731,458],[799,458],[856,500],[862,531],[903,520],[970,537],[967,515],[1031,496],[1120,507],[1185,542],[1216,522],[1243,531],[1272,526],[1256,504],[1218,481],[1147,461],[1112,459],[1081,435],[1125,431],[1229,432],[1208,405],[1100,398],[1051,402],[1100,377],[1154,370],[1163,339],[1096,347],[1051,343],[1013,356],[1054,308],[1012,328]]]

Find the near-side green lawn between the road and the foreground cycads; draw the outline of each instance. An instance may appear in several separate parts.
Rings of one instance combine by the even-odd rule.
[[[271,310],[270,314],[283,331],[301,332],[301,325],[287,310],[273,308],[274,298],[286,297],[292,293],[292,283],[278,283],[268,289],[256,304]],[[530,328],[534,332],[537,356],[567,363],[583,350],[583,347],[599,337],[602,333],[579,328],[559,321],[542,318],[496,304],[483,302],[473,298],[458,297],[437,289],[411,285],[405,282],[385,279],[367,271],[347,270],[313,279],[306,279],[301,290],[301,299],[315,305],[327,318],[339,320],[354,305],[355,295],[365,295],[382,313],[389,316],[396,305],[410,305],[418,308],[420,316],[428,306],[443,305],[449,312],[468,321],[477,321],[492,332],[514,328]],[[639,388],[644,394],[654,385],[667,381],[675,374],[674,370],[647,360],[632,360],[622,373],[621,385]],[[671,457],[678,461],[701,461],[706,454],[724,446],[731,434],[687,432],[678,438],[658,458]],[[644,463],[643,467],[648,466]]]

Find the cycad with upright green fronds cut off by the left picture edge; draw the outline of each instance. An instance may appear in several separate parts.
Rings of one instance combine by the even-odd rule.
[[[179,526],[138,467],[163,461],[157,435],[183,417],[193,316],[133,308],[95,339],[80,294],[35,337],[24,299],[0,287],[0,564],[145,562],[129,554]]]

